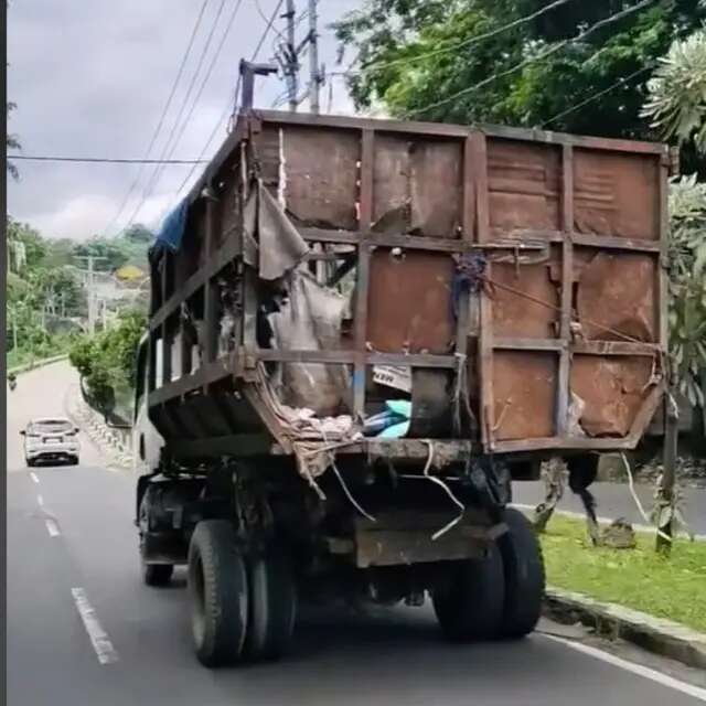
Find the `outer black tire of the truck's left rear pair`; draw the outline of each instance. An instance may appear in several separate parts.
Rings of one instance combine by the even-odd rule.
[[[237,662],[247,632],[247,571],[227,520],[196,525],[189,545],[189,593],[199,661],[204,666]]]

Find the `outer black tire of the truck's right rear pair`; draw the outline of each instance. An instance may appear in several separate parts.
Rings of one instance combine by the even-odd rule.
[[[544,559],[532,523],[517,510],[505,510],[507,533],[498,544],[505,575],[504,638],[524,638],[537,625],[544,598]]]

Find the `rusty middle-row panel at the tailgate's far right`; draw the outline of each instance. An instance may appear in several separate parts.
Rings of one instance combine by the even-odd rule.
[[[655,341],[656,257],[576,253],[576,311],[588,340]]]

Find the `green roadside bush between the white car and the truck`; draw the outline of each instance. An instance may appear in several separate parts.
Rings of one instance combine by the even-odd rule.
[[[82,335],[71,347],[69,361],[103,414],[113,413],[116,397],[135,387],[137,346],[146,325],[142,312],[125,311],[114,328]]]

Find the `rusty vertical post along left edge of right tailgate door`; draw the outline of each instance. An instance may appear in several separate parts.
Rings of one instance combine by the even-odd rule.
[[[475,184],[475,233],[479,243],[490,240],[490,207],[488,195],[488,145],[482,132],[473,132],[470,137],[473,146],[473,181]],[[492,279],[490,263],[485,266],[486,277]],[[481,405],[480,422],[481,439],[486,451],[494,447],[493,425],[495,424],[494,392],[493,392],[493,308],[492,302],[481,289],[480,306],[480,378]]]

